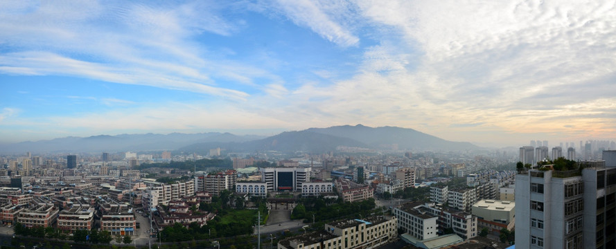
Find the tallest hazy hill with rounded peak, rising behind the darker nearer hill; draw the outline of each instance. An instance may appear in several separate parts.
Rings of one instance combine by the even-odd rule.
[[[398,149],[463,151],[479,149],[470,142],[452,142],[428,135],[421,131],[400,127],[367,127],[362,124],[355,126],[343,125],[329,128],[310,128],[306,131],[323,133],[343,138],[353,138],[371,147],[382,145],[398,145]]]

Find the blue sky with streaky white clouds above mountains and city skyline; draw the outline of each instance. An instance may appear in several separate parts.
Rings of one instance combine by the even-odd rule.
[[[616,138],[616,0],[0,1],[0,143],[364,124]]]

